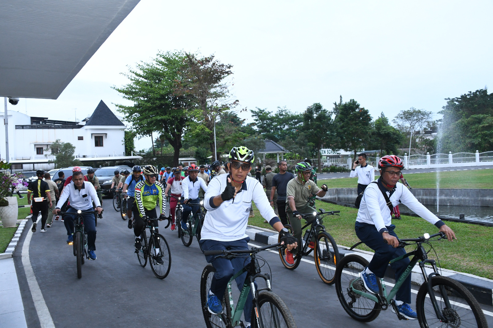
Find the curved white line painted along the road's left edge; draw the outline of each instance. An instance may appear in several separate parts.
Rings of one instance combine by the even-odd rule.
[[[41,215],[38,216],[37,221]],[[39,225],[38,225],[39,227]],[[24,266],[24,272],[26,274],[26,279],[28,281],[29,290],[33,296],[34,306],[36,308],[37,317],[39,318],[39,323],[41,328],[55,328],[53,319],[51,318],[50,311],[46,306],[43,298],[43,294],[39,289],[37,284],[36,276],[34,275],[33,267],[31,266],[31,260],[29,259],[29,244],[31,243],[31,237],[33,236],[33,231],[29,229],[26,239],[24,240],[24,245],[22,245],[22,265]]]

